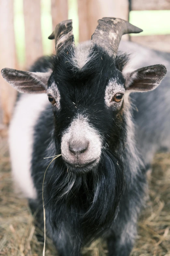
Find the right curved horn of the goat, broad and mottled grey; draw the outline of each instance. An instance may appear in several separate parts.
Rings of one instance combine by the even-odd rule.
[[[122,35],[140,33],[143,30],[130,24],[128,21],[117,18],[102,18],[98,20],[98,26],[92,35],[92,46],[106,49],[110,56],[116,58]]]

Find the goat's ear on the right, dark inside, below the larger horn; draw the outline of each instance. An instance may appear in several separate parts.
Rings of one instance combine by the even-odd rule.
[[[147,92],[154,90],[166,75],[164,65],[139,68],[124,75],[125,88],[129,92]]]

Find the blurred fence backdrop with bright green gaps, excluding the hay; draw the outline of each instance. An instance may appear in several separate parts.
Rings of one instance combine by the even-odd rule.
[[[129,20],[144,31],[124,36],[170,51],[170,0],[0,0],[0,69],[25,70],[53,52],[48,36],[61,21],[73,19],[76,43],[90,40],[102,17]],[[0,76],[0,130],[9,123],[16,92]]]

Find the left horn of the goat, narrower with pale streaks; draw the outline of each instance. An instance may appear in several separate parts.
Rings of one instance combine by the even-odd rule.
[[[48,38],[55,39],[55,50],[58,55],[68,46],[74,47],[72,20],[60,22]]]

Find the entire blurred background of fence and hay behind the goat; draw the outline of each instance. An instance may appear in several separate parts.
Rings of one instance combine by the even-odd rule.
[[[75,42],[90,40],[102,17],[129,20],[140,34],[124,35],[147,47],[170,52],[170,0],[0,0],[0,70],[27,70],[43,54],[54,52],[48,36],[61,21],[73,19]],[[42,255],[27,200],[14,194],[7,128],[16,91],[0,75],[0,255]],[[133,256],[170,256],[170,154],[159,153],[149,179],[149,200],[138,223]],[[96,241],[83,255],[106,255]],[[47,239],[46,255],[56,255]]]

